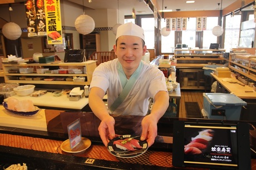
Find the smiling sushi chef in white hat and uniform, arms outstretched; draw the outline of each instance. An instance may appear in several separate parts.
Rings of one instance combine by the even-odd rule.
[[[136,24],[118,27],[114,51],[117,59],[97,66],[90,84],[89,106],[99,117],[99,134],[105,146],[116,135],[110,114],[145,116],[141,121],[141,141],[151,146],[157,136],[157,122],[169,105],[165,76],[155,66],[142,61],[146,53],[144,30]],[[107,94],[107,106],[102,101]],[[147,115],[149,98],[154,99]]]

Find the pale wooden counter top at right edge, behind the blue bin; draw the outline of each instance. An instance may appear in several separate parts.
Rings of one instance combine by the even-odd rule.
[[[217,80],[221,85],[225,87],[230,93],[238,96],[240,99],[256,99],[256,91],[253,91],[253,87],[249,87],[248,85],[242,86],[237,83],[228,83],[223,81],[224,78],[218,78],[215,74],[211,73],[211,76],[215,80]],[[230,78],[235,81],[239,81],[235,78]],[[251,91],[251,92],[245,92]]]

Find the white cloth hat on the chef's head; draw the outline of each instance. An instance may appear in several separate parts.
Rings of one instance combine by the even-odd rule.
[[[140,37],[145,42],[144,30],[139,25],[136,25],[132,22],[122,24],[117,28],[116,39],[122,35],[132,35]]]

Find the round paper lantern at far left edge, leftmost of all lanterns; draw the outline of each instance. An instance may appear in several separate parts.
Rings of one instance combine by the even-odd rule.
[[[16,40],[21,37],[22,31],[18,24],[9,22],[3,25],[2,33],[7,39]]]

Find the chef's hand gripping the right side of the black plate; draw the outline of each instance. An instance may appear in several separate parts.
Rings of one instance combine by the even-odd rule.
[[[140,140],[147,141],[147,145],[150,147],[155,142],[157,136],[157,119],[153,115],[147,115],[141,121],[142,133]]]

